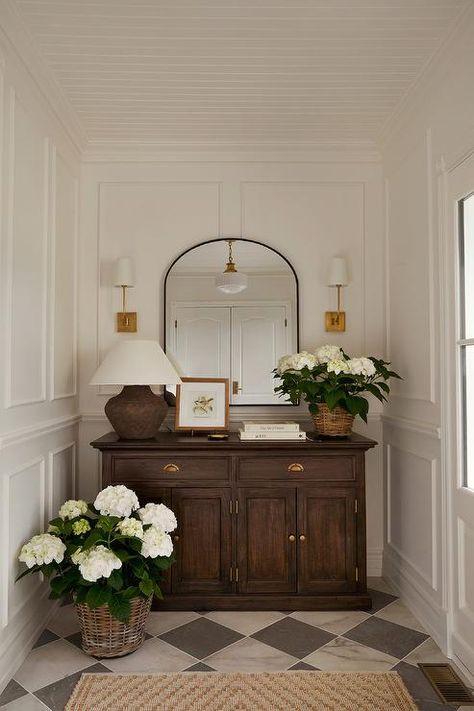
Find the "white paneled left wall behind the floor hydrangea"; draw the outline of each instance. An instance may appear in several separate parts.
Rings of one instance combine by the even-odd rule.
[[[0,689],[53,609],[20,546],[75,487],[79,160],[0,36]]]

